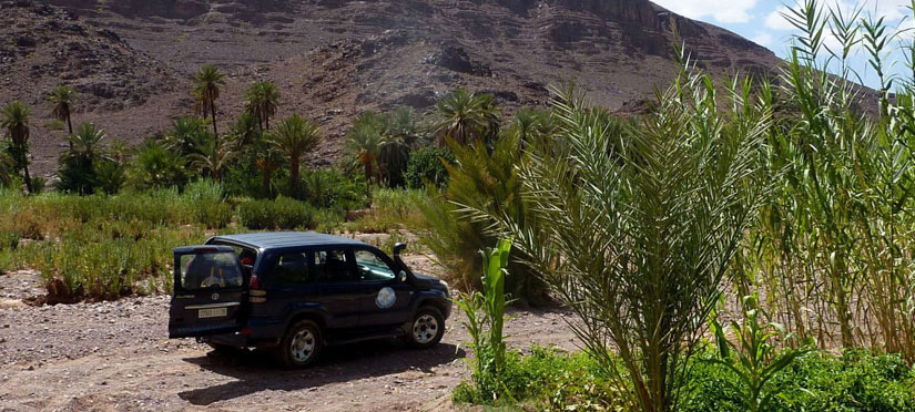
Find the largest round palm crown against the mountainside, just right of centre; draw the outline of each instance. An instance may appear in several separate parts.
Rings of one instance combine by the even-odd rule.
[[[433,132],[439,142],[451,138],[459,144],[498,134],[499,117],[491,95],[458,89],[435,104]]]

